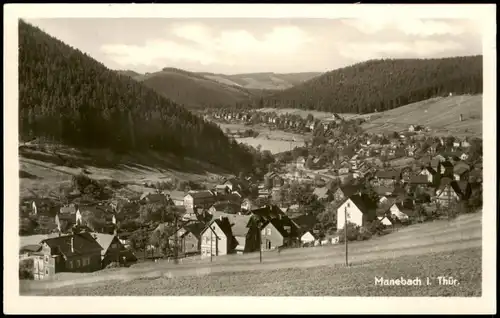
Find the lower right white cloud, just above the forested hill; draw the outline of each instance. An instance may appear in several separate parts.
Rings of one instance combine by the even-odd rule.
[[[432,57],[448,51],[464,49],[454,41],[411,41],[411,42],[350,42],[337,45],[340,55],[354,61],[375,58]]]

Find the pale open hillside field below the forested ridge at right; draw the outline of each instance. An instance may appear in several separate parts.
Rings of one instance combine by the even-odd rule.
[[[482,95],[432,98],[370,114],[372,119],[362,127],[369,133],[407,130],[409,125],[423,125],[436,136],[481,136],[483,118]],[[463,121],[459,120],[462,114]]]

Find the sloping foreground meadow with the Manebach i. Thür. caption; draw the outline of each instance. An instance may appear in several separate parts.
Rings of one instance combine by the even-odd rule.
[[[336,295],[339,289],[332,290],[329,286],[344,286],[340,290],[351,290],[352,295],[366,295],[355,286],[365,279],[366,284],[372,284],[376,275],[397,276],[392,278],[401,275],[451,275],[456,278],[459,275],[480,275],[481,217],[482,212],[462,215],[453,221],[417,224],[369,241],[350,243],[349,261],[354,266],[344,270],[361,268],[360,271],[365,272],[363,280],[350,283],[343,281],[344,275],[339,268],[345,260],[345,247],[330,245],[289,249],[280,254],[266,252],[263,253],[262,264],[259,263],[258,253],[219,256],[214,258],[213,263],[206,258],[184,259],[178,265],[160,261],[88,274],[61,273],[50,281],[22,281],[20,288],[21,294],[27,295]],[[457,255],[463,256],[457,258]],[[412,267],[411,264],[418,264],[421,260],[424,261]],[[392,269],[387,272],[383,268]],[[467,272],[467,268],[471,271]],[[322,273],[328,275],[323,276]],[[245,277],[249,276],[268,277],[270,280],[257,291],[248,288]],[[149,284],[144,284],[145,280]],[[207,284],[213,280],[216,282]],[[315,283],[309,286],[307,281]],[[474,295],[478,292],[477,282],[480,293],[479,279],[473,285],[471,293]],[[300,284],[307,284],[313,291],[298,288]],[[318,289],[314,288],[316,285]],[[179,286],[184,288],[177,289]],[[444,291],[438,288],[425,292],[437,295]],[[467,294],[470,292],[468,289],[456,292],[471,296]],[[376,293],[375,289],[372,288],[370,293]],[[453,294],[452,289],[444,293]]]

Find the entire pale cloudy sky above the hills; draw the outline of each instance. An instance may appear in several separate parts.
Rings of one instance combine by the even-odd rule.
[[[472,20],[27,19],[111,69],[224,74],[328,71],[374,58],[482,53]]]

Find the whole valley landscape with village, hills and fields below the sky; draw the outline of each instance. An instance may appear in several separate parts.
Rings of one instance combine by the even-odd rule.
[[[22,295],[481,295],[482,56],[140,73],[19,39]]]

